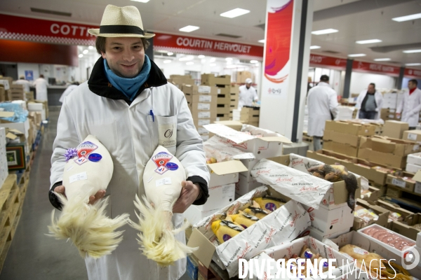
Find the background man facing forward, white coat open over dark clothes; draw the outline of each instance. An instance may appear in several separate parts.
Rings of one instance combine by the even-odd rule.
[[[359,118],[367,120],[380,119],[383,105],[383,94],[375,90],[375,84],[370,83],[367,90],[360,92],[356,99],[356,109],[359,109]]]

